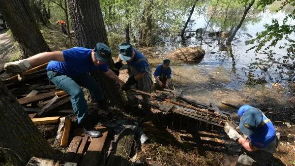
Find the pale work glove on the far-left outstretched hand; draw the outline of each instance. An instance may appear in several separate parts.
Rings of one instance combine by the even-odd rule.
[[[6,70],[6,73],[18,74],[19,81],[24,78],[24,72],[26,72],[29,67],[30,64],[27,59],[4,64],[4,70]]]

